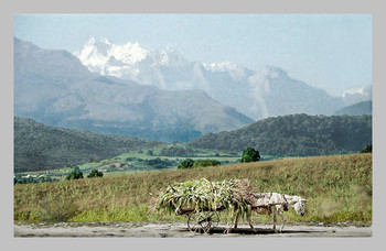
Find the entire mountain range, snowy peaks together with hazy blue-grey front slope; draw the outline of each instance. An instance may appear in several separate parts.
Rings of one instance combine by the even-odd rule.
[[[187,142],[267,117],[333,114],[371,86],[332,97],[267,66],[202,64],[172,48],[90,40],[73,54],[14,39],[14,114],[47,126]]]

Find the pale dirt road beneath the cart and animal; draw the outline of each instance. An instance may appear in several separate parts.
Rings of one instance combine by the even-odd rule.
[[[360,223],[360,226],[363,226]],[[192,233],[186,222],[67,222],[67,223],[14,223],[14,237],[133,237],[133,238],[262,238],[262,237],[372,237],[371,226],[336,223],[288,223],[282,233],[275,233],[272,225],[239,225],[237,232],[224,233],[226,225],[219,225],[208,234]]]

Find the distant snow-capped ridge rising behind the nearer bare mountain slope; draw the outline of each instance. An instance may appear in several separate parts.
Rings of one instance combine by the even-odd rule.
[[[73,55],[101,75],[164,90],[204,90],[254,120],[292,113],[332,114],[352,98],[350,94],[332,97],[275,66],[251,70],[229,62],[202,64],[172,48],[159,52],[138,43],[117,45],[107,39],[92,39]],[[355,94],[357,99],[361,95]]]

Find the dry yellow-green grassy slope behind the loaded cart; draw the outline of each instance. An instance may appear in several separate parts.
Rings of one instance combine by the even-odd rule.
[[[372,222],[372,154],[297,157],[192,170],[161,170],[124,176],[14,186],[14,220],[39,221],[44,198],[74,201],[69,221],[185,221],[150,212],[159,190],[174,182],[249,178],[256,192],[307,198],[305,216],[290,209],[289,221]],[[221,214],[223,215],[223,214]],[[256,218],[255,218],[256,220]],[[271,220],[259,216],[259,221]]]

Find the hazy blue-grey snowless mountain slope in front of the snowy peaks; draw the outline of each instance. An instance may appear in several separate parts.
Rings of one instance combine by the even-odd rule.
[[[167,91],[90,73],[64,51],[14,40],[14,113],[49,126],[189,141],[253,122],[203,91]]]

